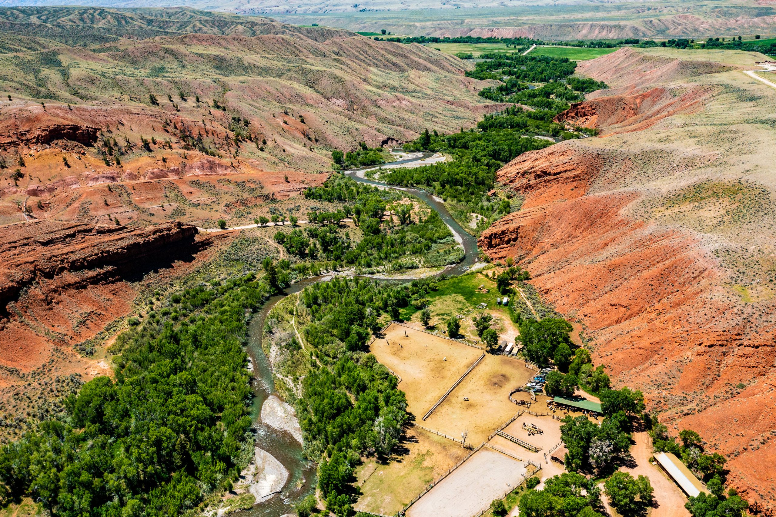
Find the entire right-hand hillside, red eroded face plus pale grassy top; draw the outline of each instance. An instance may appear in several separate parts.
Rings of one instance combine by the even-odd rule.
[[[624,49],[580,64],[612,88],[563,118],[601,136],[502,168],[525,202],[480,246],[520,257],[618,384],[697,429],[773,508],[776,89],[742,73],[763,59]]]

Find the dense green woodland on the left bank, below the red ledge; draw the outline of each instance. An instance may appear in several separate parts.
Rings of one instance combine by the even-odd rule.
[[[54,515],[178,515],[230,489],[251,448],[246,312],[272,281],[255,274],[173,295],[113,345],[95,377],[0,450],[0,496]],[[274,281],[277,288],[277,281]],[[249,456],[249,454],[248,454]]]

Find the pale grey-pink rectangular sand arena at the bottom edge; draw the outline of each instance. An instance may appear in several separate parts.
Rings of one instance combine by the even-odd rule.
[[[471,517],[523,479],[524,464],[484,448],[407,510],[407,517]]]

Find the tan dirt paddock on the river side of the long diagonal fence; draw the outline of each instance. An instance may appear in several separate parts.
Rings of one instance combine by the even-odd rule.
[[[371,351],[401,377],[399,388],[407,394],[408,409],[418,419],[483,354],[473,346],[396,324],[386,329],[384,338],[372,343]],[[478,364],[474,371],[482,366]]]

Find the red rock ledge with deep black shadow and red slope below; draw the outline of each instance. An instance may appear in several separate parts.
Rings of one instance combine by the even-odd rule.
[[[30,371],[46,364],[54,348],[72,352],[129,311],[137,294],[130,277],[190,262],[206,242],[179,222],[0,228],[0,365]],[[75,354],[71,360],[88,362]]]

